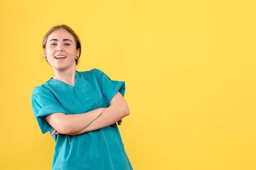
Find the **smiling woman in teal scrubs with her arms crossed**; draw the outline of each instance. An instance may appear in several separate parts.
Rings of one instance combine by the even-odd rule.
[[[132,170],[116,124],[129,115],[125,83],[76,71],[81,43],[66,25],[47,32],[43,50],[54,77],[34,88],[32,109],[56,141],[52,170]]]

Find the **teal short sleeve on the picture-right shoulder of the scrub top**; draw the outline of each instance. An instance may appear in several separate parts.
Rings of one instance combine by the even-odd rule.
[[[99,87],[101,88],[103,97],[108,99],[108,105],[110,105],[112,98],[117,92],[120,92],[124,96],[124,81],[113,81],[104,72],[98,69],[94,69],[93,71],[99,83]]]

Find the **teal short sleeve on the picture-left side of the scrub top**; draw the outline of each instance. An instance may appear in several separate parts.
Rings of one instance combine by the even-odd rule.
[[[52,129],[52,126],[45,120],[45,116],[57,112],[65,113],[65,110],[57,102],[55,97],[39,87],[35,87],[32,93],[31,105],[42,133],[46,133]]]

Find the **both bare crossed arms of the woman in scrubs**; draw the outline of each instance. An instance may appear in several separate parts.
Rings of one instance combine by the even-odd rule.
[[[79,135],[110,126],[115,122],[121,124],[121,119],[129,114],[130,111],[124,97],[120,92],[117,92],[107,108],[72,115],[53,113],[45,116],[45,120],[54,128],[52,135],[54,133]]]

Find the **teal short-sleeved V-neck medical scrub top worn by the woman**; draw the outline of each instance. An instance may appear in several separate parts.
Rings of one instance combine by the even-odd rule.
[[[32,109],[42,133],[53,131],[45,116],[79,114],[109,107],[113,96],[124,96],[125,83],[112,81],[101,70],[77,72],[75,85],[50,78],[34,88]],[[53,136],[52,170],[132,170],[117,124],[80,135]]]

